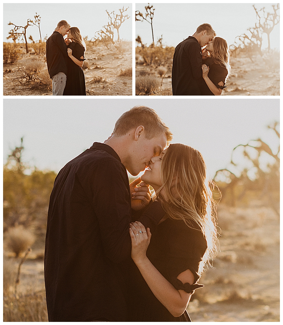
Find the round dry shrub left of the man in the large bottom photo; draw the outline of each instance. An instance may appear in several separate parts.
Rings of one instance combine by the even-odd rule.
[[[33,233],[22,226],[10,228],[5,234],[7,249],[16,254],[26,251],[35,241]]]

